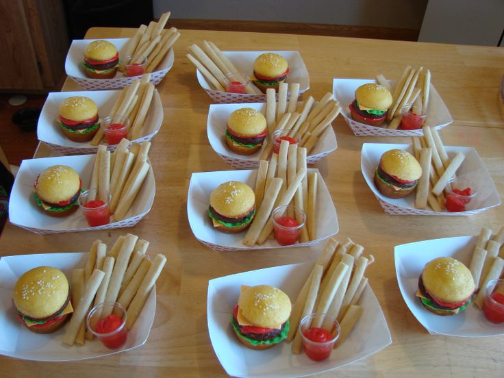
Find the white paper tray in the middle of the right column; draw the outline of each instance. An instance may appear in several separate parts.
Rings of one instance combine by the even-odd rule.
[[[478,153],[472,147],[452,147],[446,146],[448,156],[453,158],[457,152],[462,152],[466,155],[462,166],[457,171],[457,177],[466,177],[474,182],[477,186],[476,197],[471,199],[466,205],[467,210],[464,212],[435,212],[433,210],[420,210],[415,207],[415,192],[407,197],[392,199],[385,197],[376,188],[373,182],[376,168],[379,164],[381,155],[391,149],[403,149],[409,153],[413,153],[412,147],[409,144],[386,144],[386,143],[364,143],[362,144],[362,153],[360,166],[362,175],[366,179],[369,188],[375,194],[383,211],[392,215],[445,215],[445,216],[470,216],[479,214],[492,207],[499,206],[501,199],[499,192],[495,188],[494,181],[490,173],[488,173],[485,164],[479,157]]]

